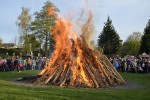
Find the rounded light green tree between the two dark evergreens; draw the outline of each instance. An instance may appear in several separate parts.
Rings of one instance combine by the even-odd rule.
[[[140,32],[133,32],[133,34],[129,35],[121,48],[122,56],[125,55],[138,56],[139,48],[141,45],[141,37],[142,34]]]

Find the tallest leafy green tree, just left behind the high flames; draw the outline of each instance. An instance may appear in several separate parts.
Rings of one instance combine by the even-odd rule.
[[[57,18],[56,12],[58,11],[59,10],[53,3],[47,1],[44,3],[44,6],[40,12],[35,12],[35,20],[31,25],[31,30],[34,34],[36,34],[36,37],[41,42],[41,45],[44,42],[46,57],[48,56],[47,50],[50,48],[48,43],[51,43],[50,39],[53,39],[49,32],[55,24],[55,20]]]

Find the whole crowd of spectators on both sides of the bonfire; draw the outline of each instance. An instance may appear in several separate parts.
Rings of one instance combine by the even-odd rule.
[[[117,71],[133,73],[149,73],[149,58],[110,58]],[[42,70],[46,65],[46,57],[0,57],[0,71]]]

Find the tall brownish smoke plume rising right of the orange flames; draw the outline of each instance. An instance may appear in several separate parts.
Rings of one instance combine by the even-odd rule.
[[[93,49],[94,22],[91,4],[89,0],[83,0],[83,8],[77,19],[77,25],[81,28],[81,35],[85,39],[86,44]]]

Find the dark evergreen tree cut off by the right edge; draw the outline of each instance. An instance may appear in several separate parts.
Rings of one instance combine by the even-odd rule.
[[[150,19],[144,29],[144,34],[141,40],[140,53],[150,53]]]

